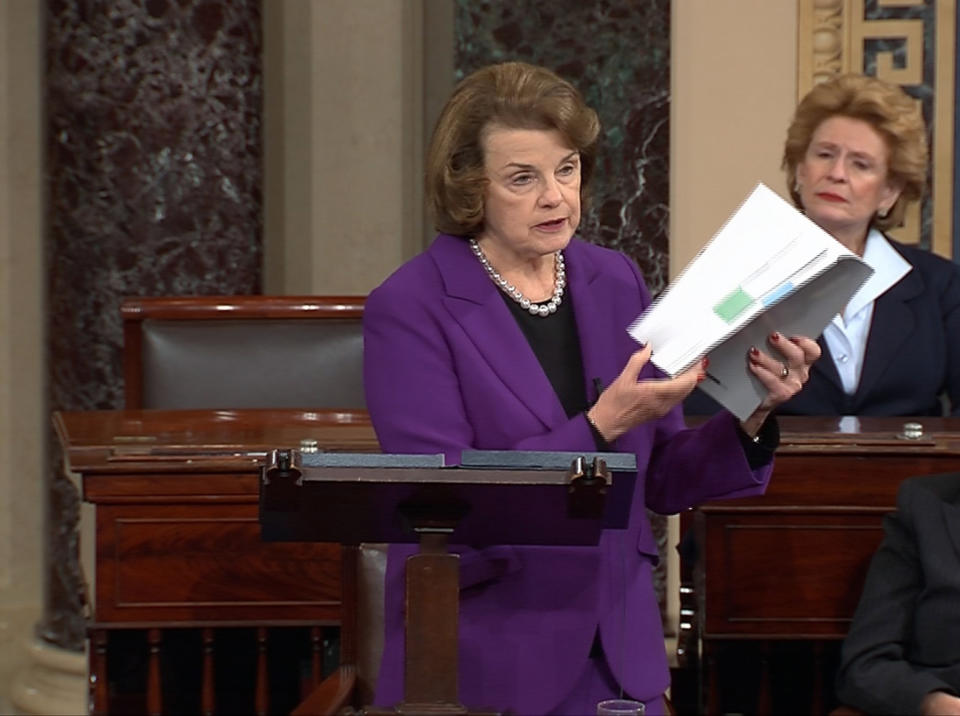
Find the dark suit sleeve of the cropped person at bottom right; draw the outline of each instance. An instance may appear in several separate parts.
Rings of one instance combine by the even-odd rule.
[[[884,539],[870,563],[860,603],[841,652],[837,696],[869,713],[920,713],[931,691],[949,684],[911,664],[906,645],[924,575],[917,552],[913,486],[900,489],[897,512],[884,519]]]

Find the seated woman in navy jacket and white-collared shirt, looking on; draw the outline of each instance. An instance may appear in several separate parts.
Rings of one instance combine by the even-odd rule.
[[[923,196],[927,154],[916,102],[896,85],[843,75],[798,105],[783,152],[790,196],[874,274],[778,414],[960,415],[960,266],[884,233]],[[717,407],[697,391],[686,413]]]

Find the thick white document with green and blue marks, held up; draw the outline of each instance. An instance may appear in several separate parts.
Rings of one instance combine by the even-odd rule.
[[[766,395],[747,367],[768,338],[817,338],[873,273],[856,254],[758,184],[628,331],[670,376],[704,356],[699,389],[745,420]]]

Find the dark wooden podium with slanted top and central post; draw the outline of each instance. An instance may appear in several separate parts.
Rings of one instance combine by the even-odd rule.
[[[626,528],[636,469],[622,453],[465,451],[444,467],[443,455],[278,450],[261,524],[266,540],[419,543],[406,563],[404,699],[388,713],[462,714],[459,557],[448,546],[597,544]]]

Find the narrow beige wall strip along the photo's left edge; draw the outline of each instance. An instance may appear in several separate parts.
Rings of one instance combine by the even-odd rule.
[[[38,605],[44,399],[40,12],[0,3],[0,607]]]

